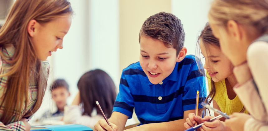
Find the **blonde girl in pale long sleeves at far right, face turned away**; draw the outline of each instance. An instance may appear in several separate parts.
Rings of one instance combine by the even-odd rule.
[[[214,0],[209,11],[213,34],[234,65],[233,87],[251,115],[225,120],[235,131],[268,130],[268,1]]]

